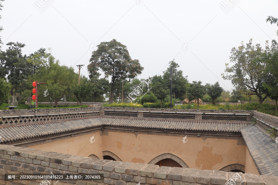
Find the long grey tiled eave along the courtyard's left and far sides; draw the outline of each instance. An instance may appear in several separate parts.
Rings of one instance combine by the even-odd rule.
[[[174,120],[150,120],[131,118],[96,117],[79,120],[59,122],[36,123],[29,125],[17,125],[0,127],[2,140],[15,141],[23,138],[35,138],[49,134],[58,134],[86,128],[101,126],[119,126],[143,129],[163,130],[195,130],[214,132],[240,132],[248,126],[248,123],[229,122],[203,122],[203,121],[174,121]]]

